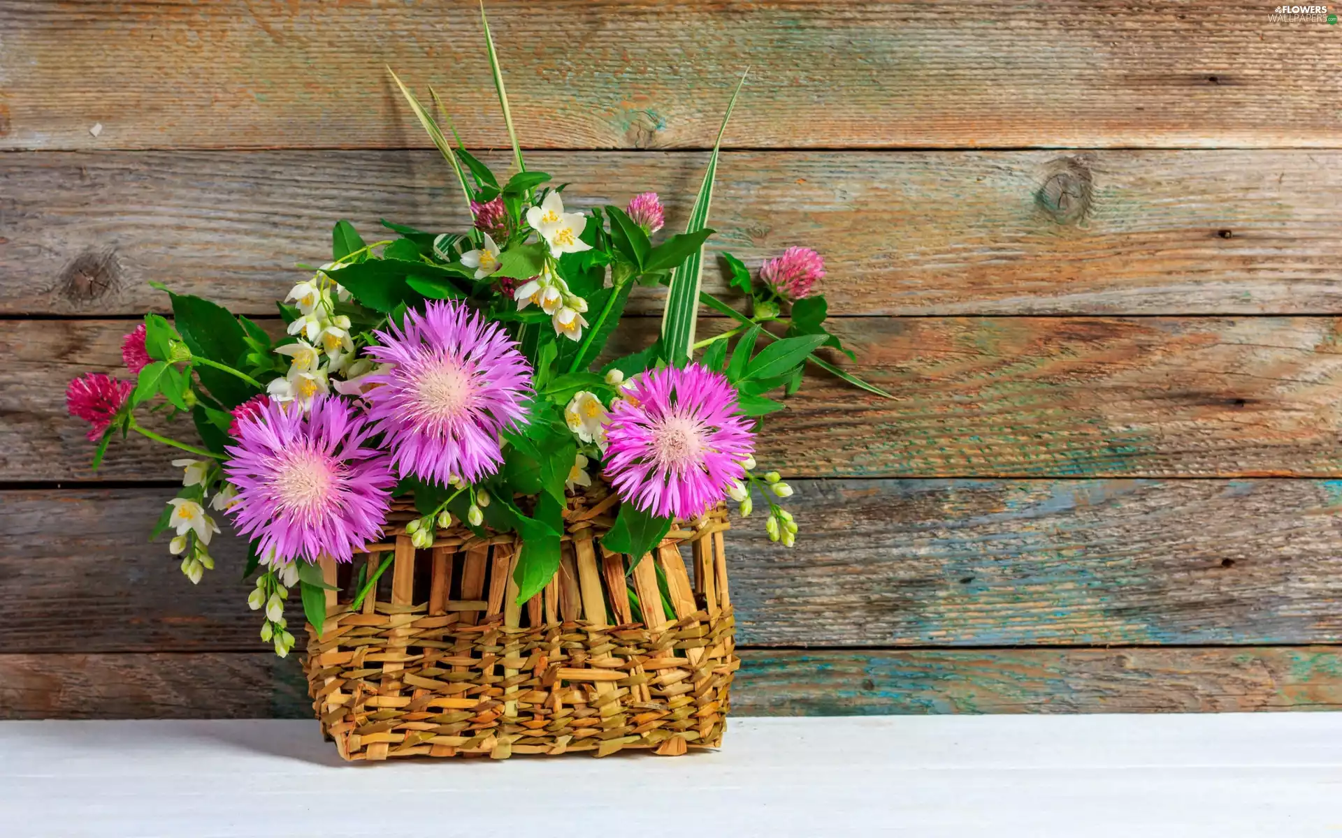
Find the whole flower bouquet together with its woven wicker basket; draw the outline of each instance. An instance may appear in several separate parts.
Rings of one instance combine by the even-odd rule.
[[[331,260],[279,303],[282,337],[162,288],[173,320],[125,339],[134,381],[83,375],[68,409],[93,425],[95,468],[118,434],[189,455],[152,538],[170,530],[199,582],[213,515],[229,516],[279,656],[298,589],[314,711],[346,759],[717,745],[738,665],[726,500],[749,516],[762,499],[774,542],[797,532],[792,489],[757,471],[760,417],[808,363],[879,390],[815,354],[843,351],[815,251],[758,280],[723,255],[747,312],[701,291],[717,145],[683,233],[654,244],[654,193],[573,212],[526,168],[484,36],[506,178],[447,139],[436,94],[437,119],[396,79],[471,229],[384,221],[395,237],[365,243],[337,223]],[[611,357],[637,286],[667,287],[660,334]],[[698,338],[701,304],[729,328]],[[140,424],[156,412],[199,442]]]

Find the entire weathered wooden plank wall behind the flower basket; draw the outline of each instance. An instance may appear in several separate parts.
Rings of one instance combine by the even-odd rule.
[[[752,64],[714,247],[820,248],[852,369],[898,396],[817,377],[770,420],[803,538],[733,539],[738,711],[1342,705],[1334,27],[491,8],[535,165],[584,204],[656,189],[672,227]],[[306,715],[236,574],[187,590],[145,543],[168,457],[90,473],[62,387],[119,365],[149,280],[268,318],[336,217],[464,223],[384,63],[502,142],[470,3],[0,0],[0,717]]]

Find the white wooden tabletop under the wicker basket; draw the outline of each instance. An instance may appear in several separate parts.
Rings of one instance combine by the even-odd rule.
[[[1342,713],[733,719],[725,747],[345,764],[313,721],[0,723],[0,834],[1342,835]]]

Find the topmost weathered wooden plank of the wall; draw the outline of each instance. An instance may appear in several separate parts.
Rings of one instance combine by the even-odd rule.
[[[1323,24],[1272,4],[490,4],[527,147],[1335,146]],[[474,3],[5,3],[0,147],[425,146],[391,64],[506,143]],[[91,130],[101,125],[101,130]]]

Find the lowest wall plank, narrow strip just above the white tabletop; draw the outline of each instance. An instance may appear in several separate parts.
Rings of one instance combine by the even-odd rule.
[[[737,716],[1342,707],[1342,653],[1330,646],[745,649],[741,658]],[[0,719],[258,717],[311,717],[297,654],[0,654]]]

